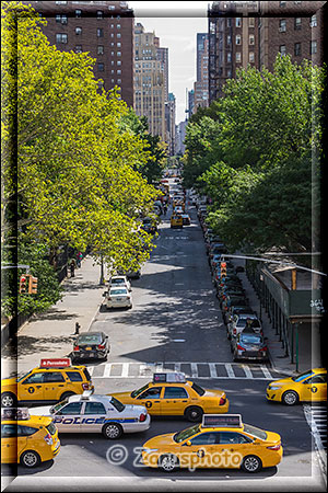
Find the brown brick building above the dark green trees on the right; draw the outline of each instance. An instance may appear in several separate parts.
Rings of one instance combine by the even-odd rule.
[[[248,65],[273,70],[279,53],[293,62],[324,60],[325,1],[216,1],[209,8],[209,98]]]

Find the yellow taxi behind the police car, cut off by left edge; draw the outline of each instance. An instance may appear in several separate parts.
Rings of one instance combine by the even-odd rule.
[[[33,468],[51,460],[60,450],[58,429],[51,417],[30,415],[28,409],[3,409],[1,463]]]

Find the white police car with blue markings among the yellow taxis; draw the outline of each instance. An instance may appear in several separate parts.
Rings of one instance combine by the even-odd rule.
[[[92,391],[71,395],[51,408],[33,408],[33,414],[50,416],[59,433],[103,433],[109,439],[150,427],[144,406],[125,405],[112,395],[93,395]]]

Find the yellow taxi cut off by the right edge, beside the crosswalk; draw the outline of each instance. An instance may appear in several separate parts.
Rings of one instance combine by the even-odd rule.
[[[267,399],[286,405],[303,401],[327,401],[327,369],[314,368],[297,377],[271,381],[267,387]]]

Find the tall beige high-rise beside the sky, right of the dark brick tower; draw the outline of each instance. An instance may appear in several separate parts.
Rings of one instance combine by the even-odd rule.
[[[134,26],[134,111],[145,116],[151,135],[166,141],[164,65],[157,57],[159,38]]]

